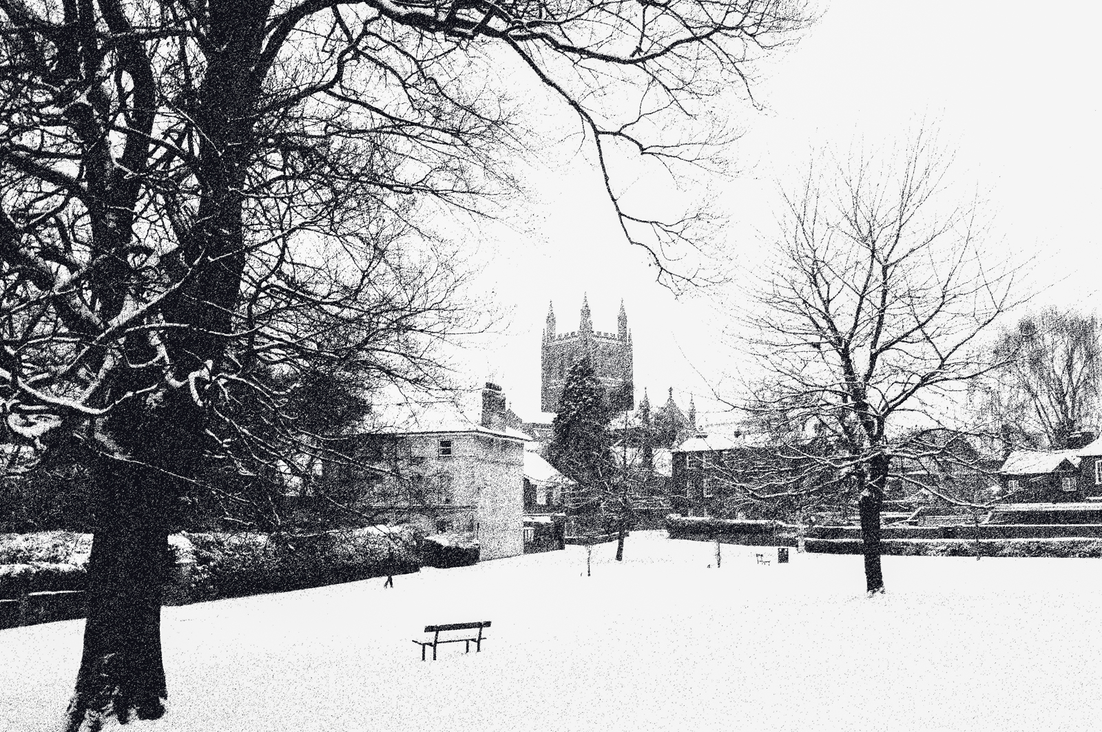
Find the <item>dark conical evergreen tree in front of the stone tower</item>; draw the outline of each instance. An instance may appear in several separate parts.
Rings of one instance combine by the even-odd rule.
[[[552,422],[554,438],[549,462],[576,482],[568,505],[577,513],[599,508],[601,485],[612,472],[608,408],[604,389],[583,359],[566,375],[559,413]]]

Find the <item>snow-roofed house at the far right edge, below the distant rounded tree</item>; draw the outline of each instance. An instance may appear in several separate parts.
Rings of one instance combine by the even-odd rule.
[[[1000,469],[1001,497],[1014,503],[1102,502],[1102,440],[1081,433],[1068,450],[1015,450]]]

